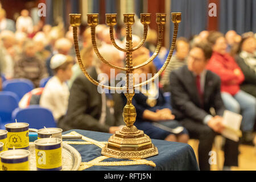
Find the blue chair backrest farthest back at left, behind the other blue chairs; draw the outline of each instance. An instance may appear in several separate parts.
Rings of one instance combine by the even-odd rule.
[[[16,93],[19,100],[32,89],[34,89],[33,82],[24,78],[6,80],[3,82],[3,91]]]

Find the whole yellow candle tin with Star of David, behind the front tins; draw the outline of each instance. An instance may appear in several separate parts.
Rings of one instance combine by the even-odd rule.
[[[8,150],[15,148],[28,150],[30,140],[28,136],[28,123],[16,122],[5,125],[7,133],[7,147]]]

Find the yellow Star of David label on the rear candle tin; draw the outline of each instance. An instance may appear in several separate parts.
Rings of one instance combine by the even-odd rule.
[[[7,133],[7,146],[9,149],[13,149],[13,147],[28,149],[29,145],[28,130]]]

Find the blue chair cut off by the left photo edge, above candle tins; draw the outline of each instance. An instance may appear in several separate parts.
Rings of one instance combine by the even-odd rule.
[[[5,124],[14,122],[11,119],[13,111],[19,107],[19,98],[13,92],[2,91],[0,92],[0,122],[1,129],[5,129]]]

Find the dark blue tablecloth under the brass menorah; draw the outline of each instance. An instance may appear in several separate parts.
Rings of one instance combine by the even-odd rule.
[[[100,133],[95,131],[86,130],[69,130],[65,131],[63,134],[68,134],[71,131],[76,131],[77,133],[84,135],[90,139],[97,140],[99,142],[108,141],[111,134]],[[64,141],[67,139],[64,139]],[[68,141],[83,141],[81,139],[69,139]],[[92,166],[85,169],[89,170],[100,170],[100,171],[159,171],[159,170],[199,170],[195,153],[191,146],[185,143],[179,142],[167,142],[165,140],[152,139],[152,143],[158,148],[159,154],[146,158],[146,160],[151,160],[156,164],[156,167],[151,167],[147,165],[133,165],[133,166]],[[99,156],[101,156],[101,148],[94,144],[71,144],[77,151],[80,152],[82,157],[82,162],[89,162]],[[115,159],[108,158],[104,162],[115,162],[127,159]]]

